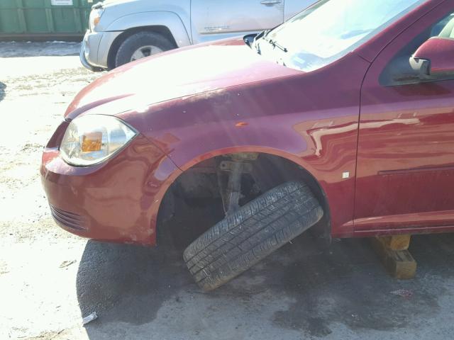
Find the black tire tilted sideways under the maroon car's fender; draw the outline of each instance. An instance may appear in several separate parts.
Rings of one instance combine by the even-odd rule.
[[[323,209],[305,183],[281,184],[243,205],[184,250],[196,283],[218,288],[312,227]]]

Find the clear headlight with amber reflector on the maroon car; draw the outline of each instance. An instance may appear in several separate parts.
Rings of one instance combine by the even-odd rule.
[[[108,159],[130,142],[137,132],[109,115],[84,115],[72,120],[63,136],[60,155],[65,162],[87,166]]]

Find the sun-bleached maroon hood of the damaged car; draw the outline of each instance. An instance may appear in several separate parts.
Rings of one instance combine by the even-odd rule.
[[[295,73],[258,55],[243,39],[222,40],[118,67],[80,91],[65,117],[73,119],[87,111],[116,115],[174,98]]]

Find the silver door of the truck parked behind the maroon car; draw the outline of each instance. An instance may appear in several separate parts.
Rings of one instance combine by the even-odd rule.
[[[192,0],[193,43],[245,35],[284,21],[284,0]]]

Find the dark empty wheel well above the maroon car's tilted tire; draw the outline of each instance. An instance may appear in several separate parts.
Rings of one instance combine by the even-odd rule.
[[[197,229],[186,234],[186,240],[182,243],[189,244],[216,222],[222,220],[224,215],[223,201],[220,194],[221,181],[219,176],[223,176],[219,171],[219,164],[228,159],[231,155],[221,155],[206,159],[184,171],[175,180],[165,193],[162,199],[157,220],[158,242],[162,237],[162,229],[176,228],[172,234],[181,234],[178,223],[173,223],[173,217],[177,221],[190,220],[196,218]],[[252,161],[253,171],[250,174],[243,174],[241,188],[243,201],[240,205],[253,200],[262,193],[287,181],[304,181],[316,196],[323,208],[323,218],[311,230],[317,237],[330,239],[331,223],[330,210],[326,194],[319,182],[298,164],[285,159],[284,157],[272,154],[259,153],[257,159]],[[200,210],[200,211],[199,211]],[[209,213],[205,220],[204,211]],[[197,216],[197,213],[199,215]],[[165,227],[164,227],[165,225]],[[189,222],[190,225],[190,222]],[[188,232],[188,230],[187,230]]]

